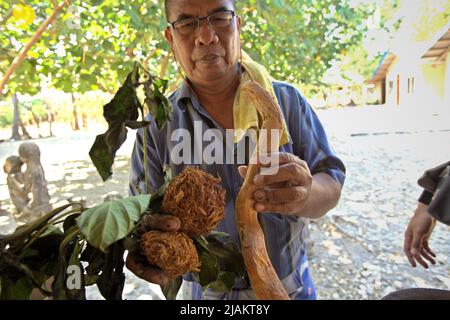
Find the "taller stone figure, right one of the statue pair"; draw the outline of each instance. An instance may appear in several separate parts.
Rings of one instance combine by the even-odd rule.
[[[24,142],[19,146],[19,156],[27,166],[23,174],[23,190],[26,194],[31,194],[22,214],[25,220],[34,220],[52,210],[47,180],[41,165],[41,152],[37,144]]]

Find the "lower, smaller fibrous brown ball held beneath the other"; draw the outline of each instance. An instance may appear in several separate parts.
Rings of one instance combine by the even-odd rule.
[[[150,231],[140,240],[141,252],[151,265],[170,278],[199,272],[200,262],[194,242],[182,232]]]

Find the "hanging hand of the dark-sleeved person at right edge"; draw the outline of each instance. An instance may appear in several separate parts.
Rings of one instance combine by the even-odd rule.
[[[425,269],[428,269],[428,264],[424,258],[432,264],[436,264],[434,260],[436,254],[428,245],[435,224],[436,220],[428,213],[428,206],[419,202],[406,229],[403,246],[403,251],[414,268],[417,261]]]

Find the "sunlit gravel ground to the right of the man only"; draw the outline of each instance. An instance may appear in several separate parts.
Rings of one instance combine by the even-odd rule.
[[[435,139],[447,142],[440,154],[431,150]],[[432,235],[438,263],[429,270],[410,267],[402,251],[420,194],[416,181],[426,168],[450,159],[450,132],[333,141],[348,176],[338,207],[311,223],[318,298],[379,299],[408,287],[450,289],[449,227],[438,224]]]

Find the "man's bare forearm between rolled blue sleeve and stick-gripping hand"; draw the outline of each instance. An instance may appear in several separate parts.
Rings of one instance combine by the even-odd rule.
[[[323,217],[337,205],[341,190],[342,186],[328,174],[313,175],[309,197],[298,215],[310,219]]]

